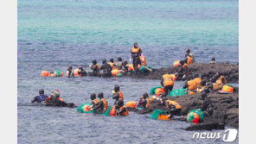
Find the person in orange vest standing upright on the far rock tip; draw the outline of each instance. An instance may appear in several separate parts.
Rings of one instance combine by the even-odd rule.
[[[131,62],[131,57],[132,57],[132,65],[134,66],[134,70],[136,72],[136,75],[138,74],[138,64],[140,65],[140,59],[139,57],[142,56],[144,57],[142,50],[140,47],[138,47],[138,43],[135,42],[134,47],[131,48],[131,55],[130,55],[130,62]]]

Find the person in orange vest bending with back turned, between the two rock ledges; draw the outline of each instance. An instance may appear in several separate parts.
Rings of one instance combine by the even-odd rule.
[[[173,81],[174,81],[174,79],[168,73],[163,74],[163,76],[161,77],[161,82],[160,83],[161,83],[166,95],[168,95],[170,93],[170,91],[172,91],[173,85],[174,85]]]

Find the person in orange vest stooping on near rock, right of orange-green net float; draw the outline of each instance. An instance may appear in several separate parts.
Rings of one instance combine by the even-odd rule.
[[[172,116],[181,116],[182,106],[176,101],[168,100],[165,93],[161,93],[161,103],[168,108],[167,116],[171,118]]]

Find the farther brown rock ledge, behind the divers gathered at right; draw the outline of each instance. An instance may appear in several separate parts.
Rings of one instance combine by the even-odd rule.
[[[139,76],[131,75],[131,78],[145,78],[145,79],[160,79],[161,76],[167,72],[176,73],[180,69],[180,66],[163,67],[160,69],[152,69],[152,71],[141,73]],[[215,72],[221,72],[228,83],[239,83],[239,65],[228,63],[217,64],[204,64],[204,63],[192,63],[189,65],[189,75],[197,73],[203,78],[210,79],[214,76]],[[176,78],[181,80],[182,77]]]

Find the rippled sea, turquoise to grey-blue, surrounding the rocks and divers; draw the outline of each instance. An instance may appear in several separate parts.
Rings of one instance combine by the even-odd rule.
[[[30,101],[43,88],[47,94],[59,89],[65,101],[76,105],[103,91],[113,104],[112,87],[118,84],[125,102],[138,102],[159,80],[40,78],[42,70],[88,70],[93,59],[127,60],[135,41],[153,68],[183,59],[188,47],[198,62],[214,56],[218,62],[237,63],[238,6],[238,0],[19,0],[18,143],[222,143],[192,140],[194,132],[182,129],[187,122],[154,121],[132,112],[122,118],[84,116],[75,109],[31,106]],[[182,85],[176,82],[174,88]]]

